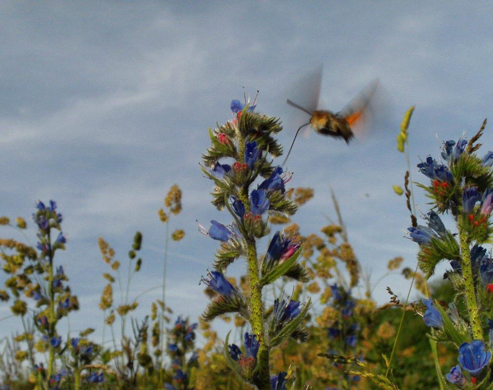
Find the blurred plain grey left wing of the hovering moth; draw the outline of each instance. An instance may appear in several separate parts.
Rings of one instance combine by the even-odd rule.
[[[320,88],[322,85],[322,65],[298,79],[288,92],[288,100],[309,112],[318,108]]]

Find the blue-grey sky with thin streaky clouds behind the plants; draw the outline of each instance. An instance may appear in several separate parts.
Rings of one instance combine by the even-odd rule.
[[[56,262],[81,304],[70,330],[92,326],[98,337],[107,271],[98,237],[124,263],[141,231],[143,265],[132,293],[160,286],[165,227],[157,210],[173,184],[182,189],[183,212],[170,224],[186,236],[170,245],[167,303],[191,318],[206,307],[198,281],[216,242],[198,232],[196,220],[230,221],[210,204],[211,182],[199,162],[207,129],[232,118],[230,101],[242,97],[242,86],[260,90],[259,112],[282,119],[287,148],[301,123],[285,99],[313,66],[323,65],[321,108],[333,111],[380,79],[387,98],[378,129],[350,146],[300,137],[287,165],[293,187],[315,189],[294,218],[301,232],[317,232],[324,215],[334,216],[330,186],[374,281],[396,256],[416,265],[405,199],[392,191],[407,168],[395,147],[404,112],[416,105],[409,142],[417,181],[424,181],[414,168],[420,159],[438,156],[443,140],[472,136],[491,116],[488,2],[3,1],[0,10],[0,215],[28,218],[37,199],[58,202],[68,243]],[[488,128],[482,141],[484,153],[493,149]],[[426,212],[423,195],[416,199]],[[8,228],[1,236],[21,238]],[[228,275],[244,271],[237,264]],[[405,296],[409,282],[386,278],[375,286],[380,303],[387,285]],[[159,288],[144,293],[136,315],[159,297]],[[8,315],[1,306],[0,318]],[[1,335],[18,325],[3,320]],[[223,334],[228,325],[214,326]]]

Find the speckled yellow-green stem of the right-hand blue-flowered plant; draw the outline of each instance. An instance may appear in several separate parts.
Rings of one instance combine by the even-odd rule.
[[[478,302],[476,300],[476,291],[474,290],[474,279],[472,277],[471,255],[469,252],[469,237],[461,227],[463,221],[462,213],[458,216],[458,230],[460,241],[460,254],[462,257],[462,277],[464,280],[465,299],[467,303],[467,311],[469,312],[469,320],[471,322],[472,334],[474,339],[483,340],[483,332],[481,331],[481,321],[479,319]]]

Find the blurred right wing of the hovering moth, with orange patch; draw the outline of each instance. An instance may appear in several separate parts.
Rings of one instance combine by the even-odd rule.
[[[346,119],[354,135],[358,137],[361,137],[364,131],[370,127],[375,110],[372,101],[378,87],[378,79],[371,81],[338,113],[339,117]]]

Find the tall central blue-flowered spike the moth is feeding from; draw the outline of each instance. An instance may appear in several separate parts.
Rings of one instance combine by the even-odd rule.
[[[262,290],[282,276],[301,282],[308,281],[309,276],[297,262],[302,250],[299,244],[281,233],[274,235],[267,255],[259,261],[257,242],[269,232],[267,211],[293,215],[297,206],[285,194],[286,173],[271,160],[282,154],[282,146],[274,138],[282,130],[279,119],[254,112],[254,105],[247,102],[238,103],[231,103],[232,121],[209,129],[211,147],[203,155],[202,171],[214,182],[212,204],[219,210],[226,208],[230,214],[225,224],[211,221],[209,229],[201,226],[204,234],[221,242],[213,264],[215,271],[203,279],[216,293],[204,318],[210,321],[226,313],[237,313],[250,324],[247,337],[251,343],[245,346],[244,363],[233,358],[238,356],[236,349],[230,354],[229,335],[225,356],[230,368],[243,380],[266,390],[271,389],[269,351],[289,336],[298,337],[310,300],[297,304],[300,310],[293,312],[294,317],[276,318],[274,313],[266,314]],[[228,285],[224,276],[227,267],[239,258],[246,259],[247,295]],[[286,314],[285,307],[283,310]],[[251,349],[250,344],[255,344],[255,348]]]

